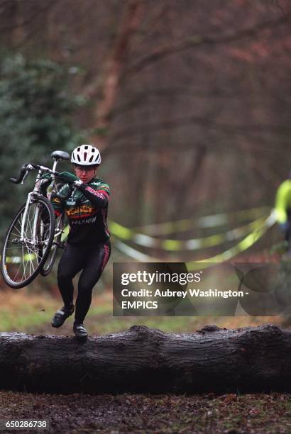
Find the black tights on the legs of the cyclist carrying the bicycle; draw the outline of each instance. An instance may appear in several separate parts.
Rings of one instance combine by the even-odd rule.
[[[111,253],[109,241],[97,245],[67,245],[57,269],[57,284],[65,306],[73,303],[72,278],[83,270],[78,282],[75,321],[82,324],[92,301],[92,289],[97,284]]]

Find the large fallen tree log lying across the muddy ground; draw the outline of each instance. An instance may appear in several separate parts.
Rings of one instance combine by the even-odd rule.
[[[0,333],[0,388],[34,392],[291,390],[291,330],[129,330],[74,337]]]

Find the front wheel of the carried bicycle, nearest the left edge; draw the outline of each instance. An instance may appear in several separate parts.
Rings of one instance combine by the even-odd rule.
[[[15,289],[33,282],[48,258],[55,234],[53,206],[48,199],[38,196],[36,199],[33,198],[28,206],[25,225],[23,225],[24,238],[21,239],[21,222],[25,209],[26,205],[21,206],[13,217],[1,250],[2,276],[6,284]],[[45,213],[48,221],[44,221]],[[45,232],[46,238],[40,239],[39,228],[45,225],[48,226],[48,231]]]

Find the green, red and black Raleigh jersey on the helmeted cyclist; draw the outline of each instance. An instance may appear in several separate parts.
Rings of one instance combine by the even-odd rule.
[[[64,184],[60,194],[66,196],[69,184]],[[83,183],[68,199],[52,199],[55,214],[66,213],[70,223],[68,244],[95,244],[108,240],[107,210],[110,188],[102,179],[94,178]]]

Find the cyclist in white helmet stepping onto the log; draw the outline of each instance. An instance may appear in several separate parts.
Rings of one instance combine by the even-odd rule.
[[[80,145],[72,152],[75,175],[62,172],[66,184],[60,189],[65,197],[73,184],[75,192],[68,199],[52,199],[55,214],[66,213],[70,222],[67,245],[57,269],[57,284],[64,306],[53,317],[52,326],[60,327],[75,310],[72,279],[82,270],[78,282],[75,322],[77,338],[87,338],[84,318],[92,301],[92,289],[97,284],[111,253],[110,233],[106,217],[109,185],[96,177],[101,163],[99,150],[92,145]]]

